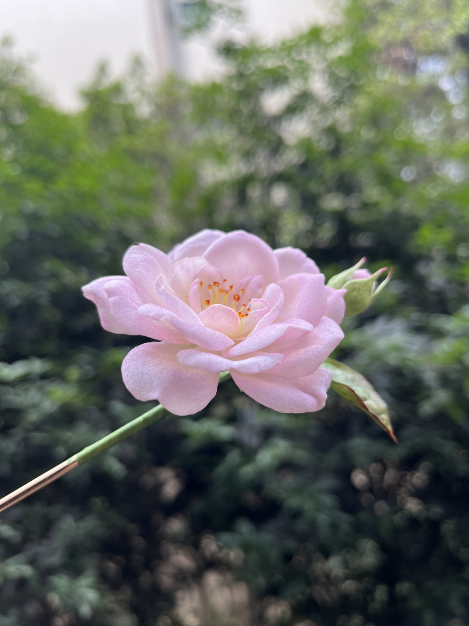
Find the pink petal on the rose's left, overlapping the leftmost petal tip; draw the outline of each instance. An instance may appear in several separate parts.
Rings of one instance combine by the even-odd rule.
[[[129,335],[143,335],[174,344],[188,343],[181,333],[167,322],[160,324],[139,314],[139,308],[143,304],[141,294],[126,277],[107,282],[104,291],[109,298],[111,313],[123,324]]]

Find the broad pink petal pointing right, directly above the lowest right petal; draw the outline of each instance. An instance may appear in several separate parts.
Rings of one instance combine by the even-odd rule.
[[[343,339],[340,326],[329,317],[323,317],[313,331],[306,332],[282,349],[282,340],[270,346],[273,352],[282,352],[285,359],[273,367],[269,374],[303,378],[320,367]]]

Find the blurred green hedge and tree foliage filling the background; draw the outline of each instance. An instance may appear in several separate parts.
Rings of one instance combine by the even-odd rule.
[[[83,111],[0,53],[0,475],[31,480],[152,406],[140,337],[79,288],[200,228],[395,280],[336,356],[399,444],[330,394],[283,415],[233,382],[0,520],[0,626],[469,624],[469,6],[351,0],[211,85],[103,66]]]

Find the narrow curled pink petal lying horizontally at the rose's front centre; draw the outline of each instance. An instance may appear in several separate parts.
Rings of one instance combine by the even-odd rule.
[[[258,374],[275,366],[283,359],[283,354],[273,354],[272,352],[255,352],[246,359],[234,361],[224,359],[223,356],[213,354],[213,352],[202,352],[196,349],[181,350],[178,352],[178,361],[184,365],[199,367],[207,372],[224,372],[229,369],[237,369],[245,374]]]

